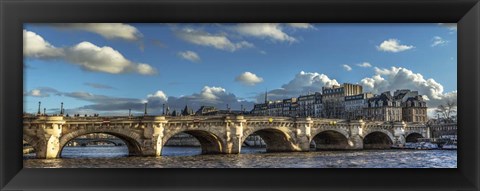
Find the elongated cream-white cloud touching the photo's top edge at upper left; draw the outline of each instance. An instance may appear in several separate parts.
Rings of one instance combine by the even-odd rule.
[[[107,39],[139,40],[142,33],[132,25],[124,23],[61,23],[53,24],[64,29],[83,30],[97,33]]]

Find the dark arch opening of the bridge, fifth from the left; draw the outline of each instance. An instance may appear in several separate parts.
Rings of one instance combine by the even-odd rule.
[[[386,130],[371,131],[363,137],[364,149],[388,149],[393,145],[394,137]]]

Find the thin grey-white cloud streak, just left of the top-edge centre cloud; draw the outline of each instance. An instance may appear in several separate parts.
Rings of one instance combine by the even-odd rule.
[[[209,46],[220,50],[226,51],[236,51],[242,48],[251,48],[254,47],[252,43],[247,41],[240,41],[233,43],[230,41],[225,34],[210,34],[207,32],[194,30],[191,28],[184,28],[182,30],[176,31],[176,35],[192,44]]]

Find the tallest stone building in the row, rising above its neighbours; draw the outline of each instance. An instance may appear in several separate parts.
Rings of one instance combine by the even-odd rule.
[[[361,94],[361,85],[343,83],[341,86],[322,87],[322,103],[326,118],[345,118],[345,96]]]

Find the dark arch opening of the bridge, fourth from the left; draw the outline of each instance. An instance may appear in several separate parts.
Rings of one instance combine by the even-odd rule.
[[[315,143],[316,150],[340,150],[347,149],[348,133],[341,130],[322,130],[312,134],[311,143]]]

